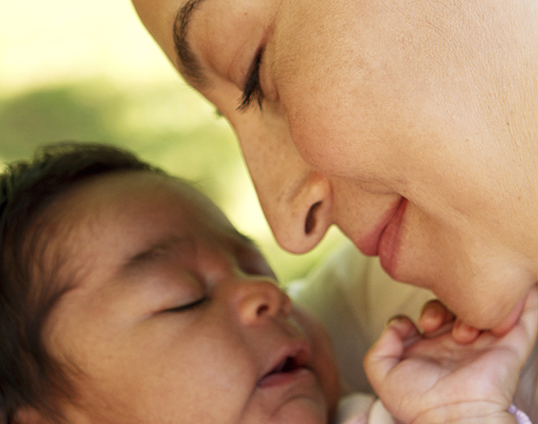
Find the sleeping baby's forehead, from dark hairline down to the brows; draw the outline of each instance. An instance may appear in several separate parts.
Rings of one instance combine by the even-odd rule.
[[[178,178],[147,171],[85,181],[52,203],[39,226],[39,262],[98,280],[135,257],[174,251],[174,240],[230,255],[257,250],[208,197]]]

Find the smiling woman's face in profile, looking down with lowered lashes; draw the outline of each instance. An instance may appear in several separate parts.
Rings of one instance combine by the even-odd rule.
[[[235,128],[282,247],[336,224],[468,324],[515,319],[538,278],[534,0],[134,5]]]

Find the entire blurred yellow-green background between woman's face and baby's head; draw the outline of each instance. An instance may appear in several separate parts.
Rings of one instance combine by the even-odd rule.
[[[228,123],[178,77],[127,0],[0,0],[0,164],[61,140],[126,147],[194,181],[281,281],[342,240],[332,229],[300,256],[276,245]]]

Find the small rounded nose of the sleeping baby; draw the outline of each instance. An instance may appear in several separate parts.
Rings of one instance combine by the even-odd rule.
[[[285,318],[291,314],[288,295],[265,278],[239,281],[235,295],[238,316],[243,324],[256,325],[267,318]]]

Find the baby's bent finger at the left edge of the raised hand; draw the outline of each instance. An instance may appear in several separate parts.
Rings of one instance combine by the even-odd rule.
[[[404,350],[420,339],[419,330],[405,316],[396,316],[386,324],[381,337],[364,357],[364,369],[370,383],[381,384],[391,369],[401,361]]]

